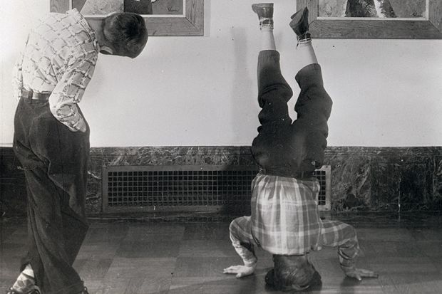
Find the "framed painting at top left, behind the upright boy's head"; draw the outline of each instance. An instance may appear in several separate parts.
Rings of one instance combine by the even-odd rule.
[[[51,0],[51,12],[77,9],[86,18],[114,11],[142,15],[149,36],[203,36],[204,0]]]

